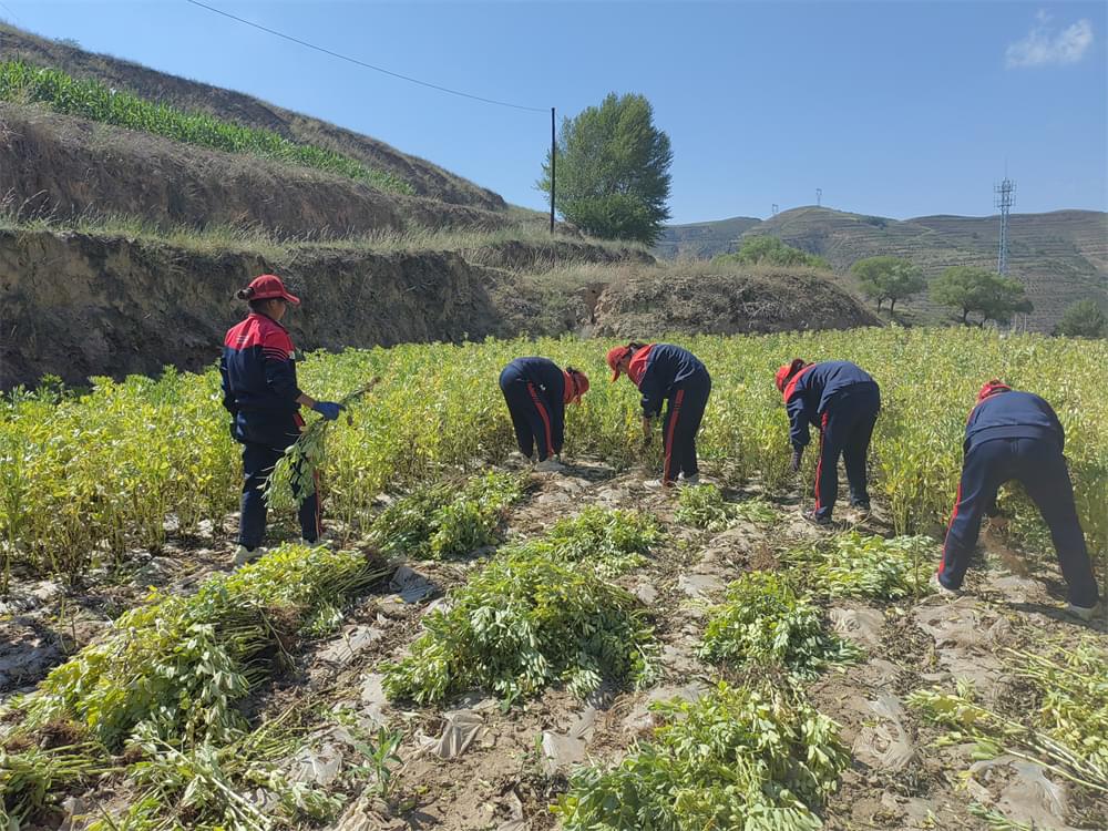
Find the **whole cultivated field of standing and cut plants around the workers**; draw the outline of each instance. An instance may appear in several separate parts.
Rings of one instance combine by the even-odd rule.
[[[853,330],[681,341],[714,376],[711,485],[645,490],[607,342],[310,356],[381,383],[329,428],[336,540],[228,573],[237,445],[218,380],[17,391],[0,422],[0,789],[22,828],[901,829],[1108,825],[1108,640],[1064,619],[1025,500],[971,596],[926,582],[979,384],[1054,403],[1098,573],[1102,341]],[[496,388],[583,368],[565,475],[534,475]],[[876,512],[797,519],[772,371],[882,386]],[[809,453],[807,465],[814,463]],[[293,535],[287,516],[271,536]],[[964,771],[972,771],[963,776]],[[72,799],[70,799],[72,798]],[[554,810],[551,810],[551,807]],[[1005,819],[1007,818],[1007,819]],[[14,827],[14,825],[12,825]],[[66,825],[69,827],[69,825]]]

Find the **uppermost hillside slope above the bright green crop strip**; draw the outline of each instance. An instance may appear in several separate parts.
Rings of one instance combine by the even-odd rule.
[[[110,55],[93,54],[0,24],[0,60],[18,58],[37,65],[54,66],[79,78],[94,79],[115,89],[130,90],[181,109],[273,130],[291,141],[330,147],[399,176],[420,196],[492,211],[506,208],[504,199],[492,191],[422,158],[401,153],[376,138],[239,92],[176,78]]]

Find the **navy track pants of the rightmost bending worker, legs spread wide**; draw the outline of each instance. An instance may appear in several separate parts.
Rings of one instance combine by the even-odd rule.
[[[993,439],[970,449],[946,531],[940,582],[947,588],[962,586],[982,516],[996,503],[1001,485],[1012,480],[1023,484],[1050,529],[1069,602],[1091,608],[1097,604],[1097,582],[1077,519],[1074,485],[1061,451],[1049,439]]]

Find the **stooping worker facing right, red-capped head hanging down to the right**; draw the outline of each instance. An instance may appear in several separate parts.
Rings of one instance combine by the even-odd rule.
[[[520,452],[537,471],[562,470],[558,458],[565,441],[565,406],[581,403],[588,379],[579,369],[561,369],[547,358],[516,358],[500,373],[500,389],[515,427]]]

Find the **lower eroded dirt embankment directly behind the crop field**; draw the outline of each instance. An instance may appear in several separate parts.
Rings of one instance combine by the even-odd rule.
[[[284,253],[267,257],[147,238],[0,230],[0,389],[33,384],[45,373],[80,384],[90,376],[154,373],[166,365],[206,367],[243,314],[232,299],[235,291],[264,273],[279,274],[302,297],[287,321],[305,350],[873,322],[854,298],[818,277],[690,277],[634,250],[577,240],[464,252],[276,250]],[[597,265],[582,279],[534,273],[583,263]]]

